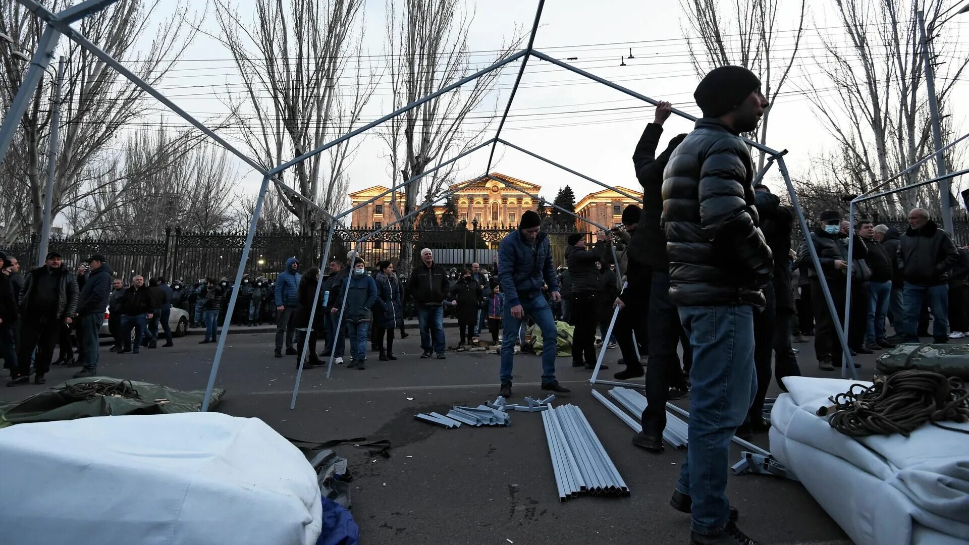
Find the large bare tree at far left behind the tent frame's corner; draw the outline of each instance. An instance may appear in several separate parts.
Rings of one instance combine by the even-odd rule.
[[[53,0],[48,8],[61,10],[72,2]],[[161,0],[119,2],[107,10],[78,21],[79,30],[111,56],[135,66],[142,80],[157,83],[191,44],[195,31],[182,24],[191,18],[188,4],[179,2],[171,17],[155,27],[150,23]],[[154,39],[146,50],[136,42],[151,35]],[[6,109],[26,76],[26,63],[16,49],[34,50],[44,30],[43,23],[14,0],[0,2],[0,32],[13,39],[11,48],[0,48],[0,86]],[[119,129],[148,111],[143,92],[134,83],[86,49],[67,39],[60,50],[69,59],[62,94],[62,130],[54,171],[53,216],[72,201],[84,200],[105,189],[105,173],[114,169],[109,145]],[[5,160],[3,195],[6,209],[15,217],[7,221],[0,242],[23,239],[32,231],[39,233],[44,212],[44,190],[47,181],[45,160],[50,134],[53,74],[48,73],[38,85],[33,101],[20,122],[11,150]],[[146,166],[149,169],[154,166]],[[134,180],[132,180],[134,181]],[[106,206],[110,204],[104,202]]]

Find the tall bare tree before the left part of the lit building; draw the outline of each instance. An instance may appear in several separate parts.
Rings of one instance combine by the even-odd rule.
[[[388,76],[394,109],[471,74],[467,40],[472,19],[473,14],[464,11],[461,0],[408,0],[402,6],[388,0]],[[510,45],[499,48],[497,58],[507,56],[520,45],[518,29],[516,35]],[[421,175],[431,163],[477,144],[487,126],[469,133],[462,126],[463,121],[469,112],[485,103],[499,76],[500,71],[492,71],[385,123],[380,134],[390,151],[391,179],[400,176],[401,181],[406,181]],[[391,209],[396,218],[413,211],[423,196],[439,197],[452,170],[453,165],[409,184],[404,189],[403,207],[397,203],[394,192]],[[401,227],[413,228],[414,219],[405,219]],[[405,264],[412,253],[407,246],[401,245],[400,258]]]

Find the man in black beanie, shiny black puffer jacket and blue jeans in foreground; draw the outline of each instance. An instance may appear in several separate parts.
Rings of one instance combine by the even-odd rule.
[[[670,500],[691,513],[691,543],[753,543],[725,494],[730,442],[757,390],[754,312],[765,305],[773,259],[758,228],[750,149],[767,101],[750,71],[723,66],[694,97],[703,111],[663,173],[670,300],[690,337],[690,433]]]

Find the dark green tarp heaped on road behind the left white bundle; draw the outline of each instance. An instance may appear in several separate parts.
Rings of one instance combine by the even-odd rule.
[[[222,388],[212,390],[209,408],[214,408],[225,393]],[[109,376],[76,378],[23,401],[0,402],[0,428],[88,416],[197,412],[204,398],[204,390],[185,392]]]

